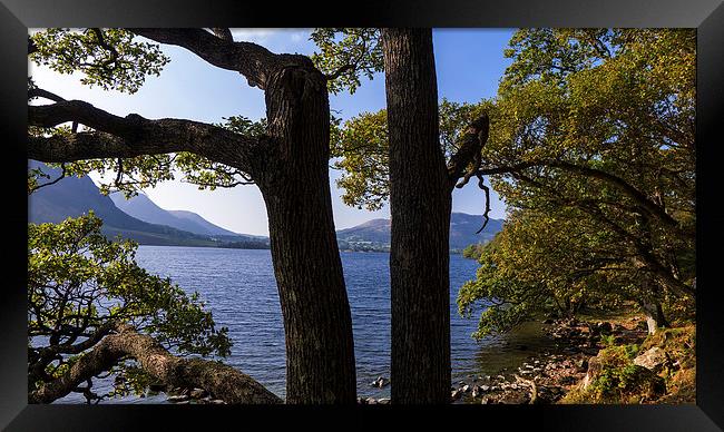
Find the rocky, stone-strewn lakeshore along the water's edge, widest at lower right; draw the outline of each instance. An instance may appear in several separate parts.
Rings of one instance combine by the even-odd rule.
[[[555,343],[552,348],[541,352],[531,352],[531,355],[513,370],[503,369],[498,374],[492,375],[469,375],[456,383],[450,389],[450,400],[453,404],[477,403],[477,404],[552,404],[571,402],[571,395],[580,397],[581,392],[588,384],[594,381],[601,372],[608,360],[607,350],[625,348],[626,346],[639,346],[643,348],[637,352],[635,357],[632,356],[628,363],[635,365],[637,391],[640,391],[642,384],[648,390],[640,391],[645,394],[636,393],[635,397],[638,403],[650,403],[665,401],[672,396],[667,392],[666,385],[663,385],[662,376],[669,377],[677,374],[677,371],[685,371],[682,367],[686,357],[674,360],[669,353],[676,353],[666,348],[661,342],[663,350],[652,343],[650,337],[647,341],[646,322],[643,316],[628,316],[625,318],[607,321],[581,321],[575,318],[552,320],[548,318],[542,322],[545,337],[551,338]],[[693,331],[693,327],[691,327]],[[686,328],[683,330],[686,332]],[[673,330],[673,332],[679,332]],[[674,334],[674,333],[672,333]],[[663,332],[663,341],[673,341],[677,336],[669,337],[672,334]],[[646,342],[647,341],[647,342]],[[693,342],[692,342],[693,344]],[[525,346],[520,348],[526,350]],[[686,346],[685,351],[693,350]],[[681,350],[679,350],[681,352]],[[693,352],[693,351],[692,351]],[[600,354],[600,355],[599,355]],[[676,356],[676,354],[674,355]],[[666,371],[666,373],[662,373]],[[688,371],[686,371],[688,372]],[[692,372],[694,373],[694,372]],[[661,376],[659,376],[661,375]],[[679,374],[685,376],[684,374]],[[692,375],[694,376],[694,375]],[[689,384],[686,377],[686,383]],[[674,380],[676,382],[676,380]],[[380,376],[370,383],[374,387],[387,387],[390,380]],[[677,384],[678,385],[678,384]],[[687,392],[692,389],[687,389]],[[200,389],[173,389],[166,391],[168,402],[172,403],[205,403],[205,404],[224,404],[223,401],[214,399],[213,395]],[[682,395],[684,392],[682,392]],[[691,399],[688,393],[678,403],[687,403]],[[673,400],[676,400],[674,397]],[[589,403],[584,400],[573,400],[574,403]],[[389,397],[358,397],[359,404],[390,404]]]

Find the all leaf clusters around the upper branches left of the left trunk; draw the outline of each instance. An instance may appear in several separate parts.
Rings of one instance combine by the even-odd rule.
[[[61,73],[81,72],[82,84],[99,86],[105,90],[136,92],[147,76],[158,76],[169,61],[158,45],[139,41],[134,33],[124,29],[46,29],[33,32],[30,38],[36,47],[30,60]],[[32,79],[29,79],[28,86],[35,87]],[[266,129],[264,119],[252,121],[242,116],[225,118],[218,126],[250,136],[260,136]],[[81,126],[78,131],[90,129]],[[56,128],[30,127],[28,131],[37,136],[71,134],[67,125]],[[62,168],[66,176],[82,177],[97,171],[102,176],[102,194],[120,190],[126,197],[136,195],[143,188],[154,187],[159,181],[173,180],[178,175],[200,189],[252,183],[247,174],[236,168],[190,153],[48,165]],[[48,176],[40,170],[28,171],[29,193],[38,187],[41,178],[48,179]]]

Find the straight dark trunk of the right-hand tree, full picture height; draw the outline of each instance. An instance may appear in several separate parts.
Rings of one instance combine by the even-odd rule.
[[[430,29],[382,33],[390,132],[392,403],[450,401],[451,195]]]

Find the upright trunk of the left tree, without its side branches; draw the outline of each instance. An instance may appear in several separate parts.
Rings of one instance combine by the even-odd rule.
[[[311,63],[310,63],[311,65]],[[352,316],[329,179],[330,109],[314,68],[288,67],[266,90],[278,140],[260,188],[266,203],[286,341],[287,403],[355,403]]]

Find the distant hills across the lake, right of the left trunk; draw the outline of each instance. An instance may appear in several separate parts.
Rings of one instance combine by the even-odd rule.
[[[502,219],[490,219],[486,229],[476,234],[482,226],[481,215],[452,213],[450,215],[450,249],[460,251],[468,245],[487,243],[502,228]],[[352,251],[389,251],[390,219],[372,219],[352,228],[340,229],[336,238],[340,247]]]

